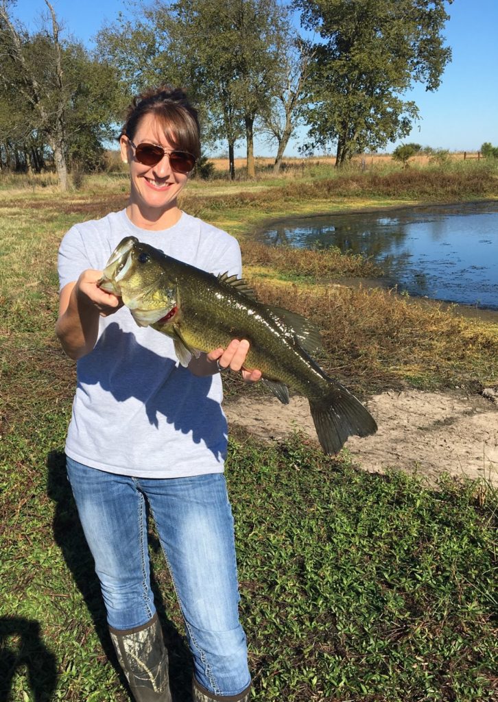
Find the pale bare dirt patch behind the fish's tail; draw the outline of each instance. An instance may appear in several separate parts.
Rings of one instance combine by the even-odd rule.
[[[400,468],[434,481],[443,472],[485,477],[498,485],[498,405],[480,395],[403,390],[374,395],[367,402],[379,431],[350,437],[353,462],[371,472]],[[225,403],[231,425],[241,425],[263,440],[294,431],[316,439],[308,401],[291,398],[288,406],[269,397]]]

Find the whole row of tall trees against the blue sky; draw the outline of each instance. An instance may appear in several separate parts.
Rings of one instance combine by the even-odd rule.
[[[42,5],[42,0],[39,0]],[[402,99],[419,81],[440,84],[452,0],[166,0],[119,14],[96,49],[61,33],[49,0],[44,26],[28,32],[12,0],[0,0],[0,168],[91,170],[116,133],[131,95],[157,84],[185,86],[199,105],[204,143],[276,146],[275,171],[300,124],[303,153],[354,154],[406,136],[417,105]],[[296,29],[299,25],[300,29]]]

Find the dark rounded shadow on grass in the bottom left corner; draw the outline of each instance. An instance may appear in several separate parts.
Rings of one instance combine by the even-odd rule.
[[[21,617],[0,618],[0,702],[11,699],[16,670],[27,670],[35,702],[49,702],[57,684],[55,656],[41,640],[37,621]]]

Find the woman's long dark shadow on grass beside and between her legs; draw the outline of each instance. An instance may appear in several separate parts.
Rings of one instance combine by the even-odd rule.
[[[51,451],[48,454],[46,465],[48,470],[47,493],[55,503],[53,517],[55,542],[63,552],[67,567],[72,573],[77,588],[84,597],[105,655],[112,663],[114,670],[116,670],[122,686],[129,690],[126,678],[117,662],[107,628],[105,606],[100,593],[100,583],[94,569],[93,557],[86,543],[83,529],[79,522],[76,504],[72,496],[71,486],[67,480],[65,454],[60,451]],[[152,543],[152,548],[157,548],[157,545]],[[164,642],[169,653],[169,674],[173,701],[189,702],[191,699],[190,680],[192,676],[190,651],[166,615],[164,600],[152,573],[151,586],[154,592],[155,606],[162,624]],[[0,702],[3,702],[3,700],[0,699]]]

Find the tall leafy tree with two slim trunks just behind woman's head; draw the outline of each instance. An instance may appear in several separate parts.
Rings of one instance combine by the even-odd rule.
[[[107,28],[98,46],[134,86],[142,87],[142,71],[149,81],[186,86],[207,136],[227,140],[232,177],[235,144],[245,137],[252,177],[254,123],[275,94],[286,17],[277,0],[167,1],[145,9],[142,21]]]

